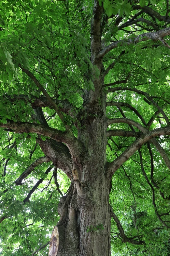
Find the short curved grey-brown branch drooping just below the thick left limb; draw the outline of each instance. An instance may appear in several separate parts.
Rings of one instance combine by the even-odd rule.
[[[48,157],[40,157],[35,162],[33,162],[21,175],[18,179],[14,181],[16,185],[21,185],[22,180],[25,179],[34,169],[37,165],[44,163],[44,162],[50,162],[50,159]]]

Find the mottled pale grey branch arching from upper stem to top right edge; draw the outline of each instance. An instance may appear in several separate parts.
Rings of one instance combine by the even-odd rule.
[[[161,41],[165,46],[170,48],[170,46],[167,43],[165,43],[165,41],[163,40],[163,38],[168,35],[170,35],[170,27],[161,29],[156,32],[144,33],[135,38],[115,41],[114,43],[107,45],[102,51],[100,51],[100,53],[98,54],[98,58],[103,58],[109,51],[113,50],[116,47],[122,46],[124,43],[126,43],[127,45],[130,45],[130,44],[136,44],[139,42],[147,41],[149,39],[153,41]]]

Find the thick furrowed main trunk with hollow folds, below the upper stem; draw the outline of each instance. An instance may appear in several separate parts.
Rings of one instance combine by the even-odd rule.
[[[78,132],[78,139],[85,145],[84,161],[81,167],[73,164],[77,176],[73,170],[69,192],[58,206],[59,242],[51,237],[50,256],[110,256],[106,119],[101,106],[98,109],[97,114],[90,113],[84,119]]]

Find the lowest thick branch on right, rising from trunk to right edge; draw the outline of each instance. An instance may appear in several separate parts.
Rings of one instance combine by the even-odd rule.
[[[143,144],[151,140],[152,138],[160,135],[170,135],[170,127],[158,128],[152,131],[148,131],[137,139],[132,145],[130,145],[117,159],[108,164],[108,173],[113,175],[119,167],[126,162]]]

